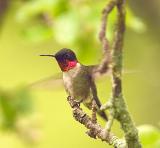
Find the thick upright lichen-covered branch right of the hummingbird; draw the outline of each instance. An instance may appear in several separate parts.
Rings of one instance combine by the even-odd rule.
[[[112,65],[112,106],[114,118],[117,119],[125,133],[126,143],[129,148],[140,148],[138,131],[131,119],[122,94],[122,47],[125,31],[125,0],[117,3],[117,25],[113,41]]]

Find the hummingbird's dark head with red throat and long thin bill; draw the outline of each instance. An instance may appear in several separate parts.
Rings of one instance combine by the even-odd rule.
[[[54,55],[40,55],[40,56],[54,57],[57,60],[59,67],[63,72],[69,71],[70,69],[74,68],[78,63],[75,53],[71,49],[67,48],[61,49]]]

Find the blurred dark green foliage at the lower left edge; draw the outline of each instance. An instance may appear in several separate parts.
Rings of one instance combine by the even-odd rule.
[[[31,95],[28,89],[20,88],[12,91],[0,92],[1,127],[3,129],[15,129],[19,116],[31,111]]]

